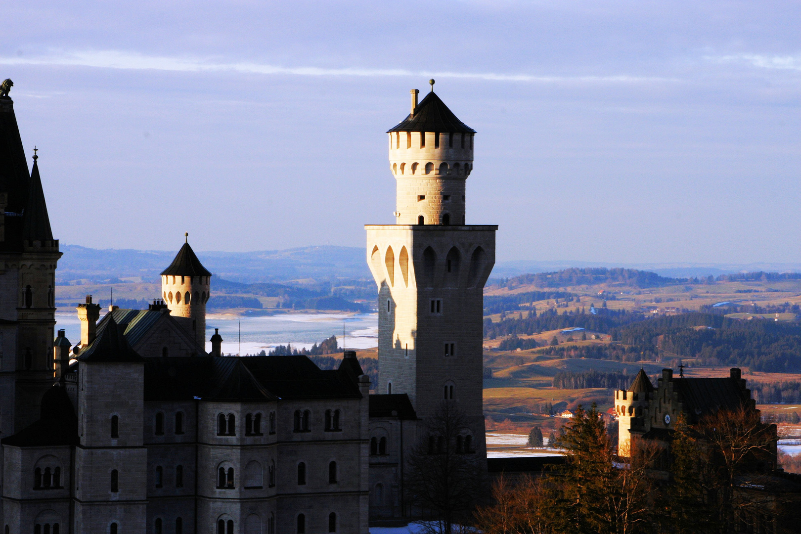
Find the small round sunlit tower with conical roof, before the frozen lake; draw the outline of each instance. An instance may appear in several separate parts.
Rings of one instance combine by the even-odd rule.
[[[175,255],[170,267],[161,273],[161,291],[164,302],[173,317],[191,319],[185,327],[195,338],[199,351],[206,350],[206,302],[211,291],[211,273],[200,263],[200,260],[189,246],[189,234],[186,243]]]

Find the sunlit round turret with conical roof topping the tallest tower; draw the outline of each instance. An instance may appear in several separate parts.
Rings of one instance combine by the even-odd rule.
[[[465,180],[473,171],[475,130],[432,91],[388,130],[389,166],[396,179],[397,224],[465,224]]]

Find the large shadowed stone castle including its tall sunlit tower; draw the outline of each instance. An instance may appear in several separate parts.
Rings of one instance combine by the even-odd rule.
[[[468,226],[473,130],[433,90],[388,132],[396,225],[368,226],[379,287],[377,394],[354,352],[206,351],[213,276],[188,241],[147,310],[78,306],[54,338],[61,252],[37,158],[0,96],[0,524],[3,534],[366,534],[405,513],[404,464],[443,402],[485,456],[482,287],[494,226]]]

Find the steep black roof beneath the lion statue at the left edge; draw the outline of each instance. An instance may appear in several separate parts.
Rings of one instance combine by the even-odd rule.
[[[26,207],[30,173],[19,135],[14,101],[0,98],[0,191],[8,193],[5,239],[0,251],[22,251],[22,210]],[[13,214],[13,215],[12,215]]]

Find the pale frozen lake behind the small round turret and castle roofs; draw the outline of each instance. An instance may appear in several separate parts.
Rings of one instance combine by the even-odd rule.
[[[106,311],[101,311],[101,317]],[[55,314],[56,330],[63,328],[67,339],[74,345],[81,339],[81,323],[74,312]],[[206,339],[219,328],[223,336],[223,352],[236,354],[241,327],[241,354],[269,351],[276,345],[292,343],[292,347],[312,347],[323,339],[336,335],[342,347],[342,326],[345,327],[346,348],[378,346],[378,314],[354,313],[276,313],[276,315],[206,315]],[[206,350],[211,345],[206,343]]]

